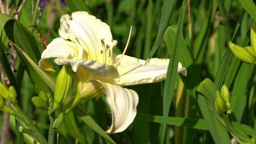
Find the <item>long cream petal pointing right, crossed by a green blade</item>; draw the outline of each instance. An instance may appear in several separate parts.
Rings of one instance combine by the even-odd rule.
[[[114,62],[117,62],[121,55],[113,54]],[[146,84],[160,82],[166,78],[166,72],[169,65],[169,59],[151,58],[140,60],[134,57],[124,55],[117,66],[120,74],[120,81],[116,84],[120,86]],[[187,70],[179,62],[177,72],[186,76]]]

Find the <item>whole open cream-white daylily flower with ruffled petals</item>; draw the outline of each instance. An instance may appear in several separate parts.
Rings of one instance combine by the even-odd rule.
[[[59,34],[44,50],[40,68],[53,70],[44,61],[56,58],[58,65],[71,65],[78,75],[77,92],[64,106],[70,112],[82,100],[106,93],[112,112],[112,125],[107,133],[122,132],[134,120],[138,94],[121,86],[160,82],[166,78],[169,59],[140,60],[116,55],[110,27],[87,12],[73,12],[60,19]],[[179,63],[177,72],[186,76],[186,68]]]

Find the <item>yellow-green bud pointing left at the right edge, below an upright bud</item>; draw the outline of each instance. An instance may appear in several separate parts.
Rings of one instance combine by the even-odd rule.
[[[236,58],[248,64],[256,64],[256,57],[252,55],[248,50],[233,44],[232,42],[229,42],[228,44]]]

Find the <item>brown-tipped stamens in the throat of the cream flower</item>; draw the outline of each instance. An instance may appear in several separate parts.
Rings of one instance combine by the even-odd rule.
[[[107,44],[105,45],[104,38],[100,40],[102,44],[102,50],[100,51],[102,60],[104,64],[112,63],[112,56],[111,56],[111,50],[110,46]]]

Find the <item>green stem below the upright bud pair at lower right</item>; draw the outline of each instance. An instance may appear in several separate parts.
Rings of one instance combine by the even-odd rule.
[[[254,140],[250,139],[247,135],[245,136],[241,132],[239,132],[233,124],[230,122],[228,118],[228,114],[222,114],[224,122],[228,128],[228,130],[234,134],[240,141],[245,142],[247,144],[254,144]]]

